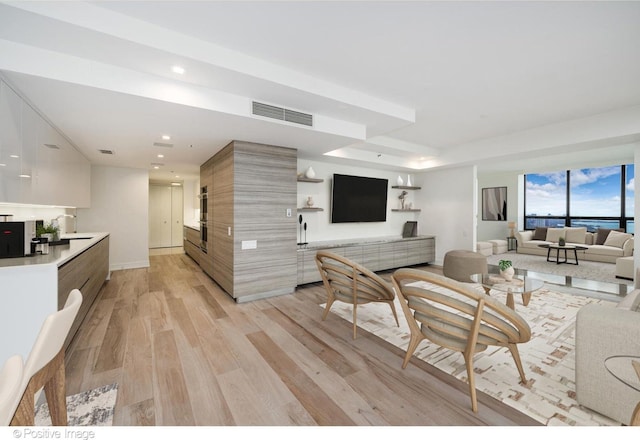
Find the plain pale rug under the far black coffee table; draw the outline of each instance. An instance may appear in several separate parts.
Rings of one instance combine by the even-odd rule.
[[[632,280],[616,278],[614,263],[601,263],[598,261],[584,261],[578,254],[578,265],[556,264],[548,262],[546,256],[528,255],[509,252],[487,257],[487,263],[497,265],[500,260],[511,260],[516,269],[525,269],[532,272],[561,275],[585,280],[602,281],[614,284],[633,284]]]

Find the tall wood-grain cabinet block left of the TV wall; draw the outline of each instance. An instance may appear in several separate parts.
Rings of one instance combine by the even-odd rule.
[[[237,302],[292,293],[297,151],[233,141],[201,173],[209,166],[208,242],[201,267]],[[207,179],[201,174],[201,185]]]

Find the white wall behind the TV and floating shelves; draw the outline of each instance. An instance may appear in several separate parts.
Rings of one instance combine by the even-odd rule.
[[[391,212],[391,209],[400,207],[400,200],[398,199],[398,196],[402,191],[391,188],[391,186],[397,184],[397,172],[298,159],[299,173],[304,172],[309,166],[313,167],[316,174],[315,177],[317,179],[324,179],[324,182],[298,182],[297,207],[301,208],[305,206],[307,197],[311,196],[314,200],[314,206],[323,208],[324,211],[296,213],[296,217],[301,214],[303,223],[307,223],[307,242],[387,236],[400,237],[402,235],[402,228],[406,221],[418,220],[417,213]],[[387,221],[374,223],[331,223],[331,182],[334,173],[389,179]],[[407,175],[402,174],[402,178],[406,183]],[[412,175],[411,183],[414,186],[420,186],[421,182],[417,174]],[[417,193],[419,192],[420,191],[409,191],[409,196],[407,197],[406,202],[412,202],[416,205],[416,208],[421,208],[421,206],[416,203]],[[298,224],[298,231],[299,230],[300,228]],[[304,232],[302,241],[304,241]]]

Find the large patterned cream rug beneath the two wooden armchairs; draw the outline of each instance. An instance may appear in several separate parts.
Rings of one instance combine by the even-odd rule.
[[[506,294],[500,292],[492,291],[491,296],[506,300]],[[476,389],[548,426],[620,426],[618,422],[578,405],[575,400],[576,313],[587,304],[614,307],[616,303],[553,292],[547,286],[533,293],[528,306],[523,306],[518,297],[515,302],[516,311],[526,319],[532,332],[531,340],[518,346],[527,384],[520,384],[508,349],[489,347],[474,357]],[[409,327],[397,298],[396,309],[400,315],[399,328],[387,304],[360,305],[358,327],[406,350]],[[352,308],[348,304],[335,302],[331,313],[352,322]],[[422,341],[414,356],[467,382],[460,353]],[[482,411],[481,404],[479,411]]]

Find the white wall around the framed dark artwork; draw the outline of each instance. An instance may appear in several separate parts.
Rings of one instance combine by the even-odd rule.
[[[516,230],[523,229],[522,219],[518,219],[518,177],[517,172],[502,172],[478,175],[478,241],[500,239],[504,240],[509,235],[507,223],[516,222]],[[507,220],[483,221],[482,220],[482,188],[496,186],[507,187]]]

